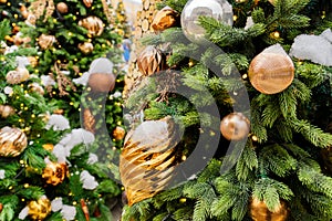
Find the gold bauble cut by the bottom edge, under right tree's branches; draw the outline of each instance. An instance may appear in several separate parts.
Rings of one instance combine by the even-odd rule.
[[[250,201],[250,215],[253,221],[286,221],[289,211],[286,202],[280,201],[280,207],[276,211],[269,211],[264,201],[253,198]]]

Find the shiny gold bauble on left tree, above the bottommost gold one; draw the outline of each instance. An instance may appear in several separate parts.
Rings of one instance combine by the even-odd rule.
[[[61,183],[68,175],[68,166],[65,164],[49,162],[43,170],[42,178],[49,185],[56,186]]]

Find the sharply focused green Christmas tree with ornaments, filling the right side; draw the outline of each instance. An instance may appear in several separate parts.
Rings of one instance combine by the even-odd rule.
[[[332,219],[330,7],[158,4],[126,101],[123,220]]]

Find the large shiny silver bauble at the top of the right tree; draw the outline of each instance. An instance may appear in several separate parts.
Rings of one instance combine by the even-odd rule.
[[[181,27],[185,35],[195,43],[206,41],[205,29],[198,22],[200,15],[232,25],[232,7],[227,0],[189,0],[181,12]]]

